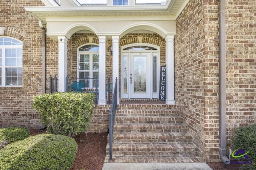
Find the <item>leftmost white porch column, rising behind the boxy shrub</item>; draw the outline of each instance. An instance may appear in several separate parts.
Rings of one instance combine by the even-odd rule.
[[[66,91],[66,76],[67,76],[67,41],[65,36],[58,36],[59,55],[58,55],[58,85],[59,92]]]

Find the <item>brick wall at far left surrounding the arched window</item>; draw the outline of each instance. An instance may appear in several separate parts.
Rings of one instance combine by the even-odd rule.
[[[42,93],[42,29],[23,6],[43,4],[40,0],[0,1],[0,26],[5,27],[4,36],[23,43],[22,87],[0,87],[0,127],[41,127],[31,99]]]

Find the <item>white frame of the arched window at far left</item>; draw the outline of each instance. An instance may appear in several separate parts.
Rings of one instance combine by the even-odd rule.
[[[19,41],[20,43],[22,43],[22,41],[13,38],[13,37],[7,37],[7,36],[0,36],[1,38],[10,38],[10,39],[14,39],[16,41]],[[23,65],[23,61],[21,66],[6,66],[5,65],[5,51],[6,49],[22,49],[22,58],[23,58],[23,43],[22,45],[0,45],[0,49],[2,49],[2,66],[0,66],[0,68],[2,69],[2,82],[1,82],[1,86],[0,87],[22,87],[23,84],[23,78],[22,78],[22,84],[21,85],[6,85],[6,68],[22,68]],[[23,69],[22,69],[22,76],[23,76]]]

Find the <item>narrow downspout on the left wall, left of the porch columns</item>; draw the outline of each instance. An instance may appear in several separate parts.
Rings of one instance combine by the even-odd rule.
[[[39,26],[42,28],[42,92],[43,94],[46,93],[46,62],[45,62],[45,46],[46,46],[46,30],[44,28],[44,25],[42,24],[42,21],[39,21]]]

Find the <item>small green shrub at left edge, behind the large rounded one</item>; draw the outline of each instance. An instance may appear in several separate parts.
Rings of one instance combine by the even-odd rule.
[[[9,143],[21,141],[30,137],[30,131],[24,127],[0,128],[0,149]]]

